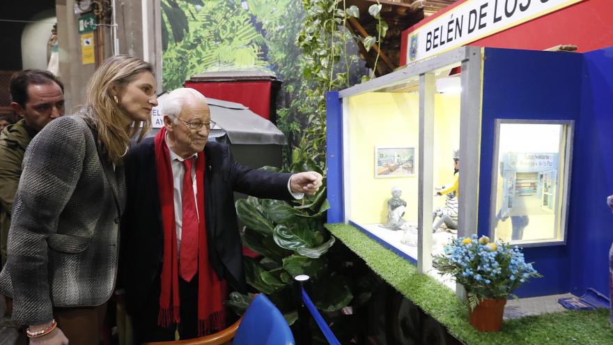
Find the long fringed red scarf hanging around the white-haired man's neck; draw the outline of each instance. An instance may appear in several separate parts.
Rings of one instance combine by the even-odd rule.
[[[177,231],[175,222],[173,173],[168,146],[166,145],[166,128],[155,135],[155,162],[157,185],[160,190],[160,206],[164,226],[164,262],[162,263],[162,286],[160,293],[160,314],[157,324],[169,327],[180,323],[179,277],[177,254]],[[208,335],[212,330],[224,328],[222,312],[222,284],[212,269],[208,258],[207,234],[204,210],[204,152],[198,153],[196,159],[196,187],[200,222],[198,243],[198,335]],[[171,305],[172,302],[172,305]],[[192,322],[192,320],[185,320]]]

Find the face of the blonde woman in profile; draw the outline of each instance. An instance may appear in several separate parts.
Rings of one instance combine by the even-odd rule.
[[[126,86],[115,89],[121,108],[130,121],[146,121],[151,116],[151,109],[157,105],[155,87],[153,74],[141,72]]]

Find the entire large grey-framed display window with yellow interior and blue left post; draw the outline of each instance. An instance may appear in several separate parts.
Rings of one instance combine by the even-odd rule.
[[[327,98],[328,220],[437,278],[433,254],[477,231],[482,61],[461,47]]]

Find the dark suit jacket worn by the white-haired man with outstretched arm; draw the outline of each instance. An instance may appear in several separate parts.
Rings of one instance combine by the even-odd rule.
[[[254,170],[237,162],[227,145],[209,142],[205,152],[205,220],[210,263],[235,291],[245,292],[242,244],[233,191],[264,199],[291,199],[290,174]],[[121,275],[129,312],[141,307],[160,274],[164,234],[153,137],[125,157],[127,206],[121,222]]]

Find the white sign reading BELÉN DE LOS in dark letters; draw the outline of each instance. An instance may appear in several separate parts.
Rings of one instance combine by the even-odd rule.
[[[407,63],[585,0],[468,0],[408,34]]]

